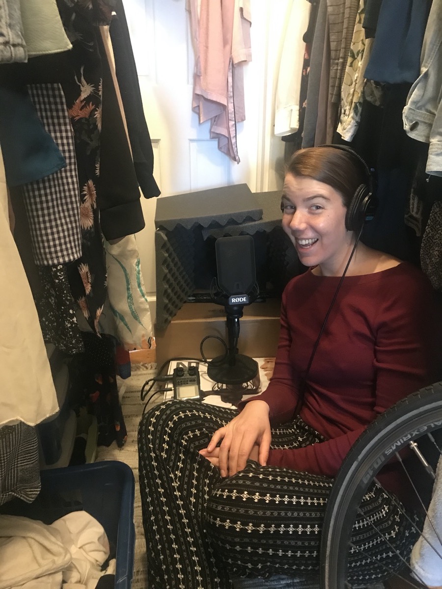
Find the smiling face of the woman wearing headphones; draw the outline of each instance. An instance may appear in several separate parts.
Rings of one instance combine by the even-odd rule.
[[[282,227],[304,266],[319,266],[324,276],[341,276],[355,236],[345,229],[341,194],[323,182],[286,174]]]

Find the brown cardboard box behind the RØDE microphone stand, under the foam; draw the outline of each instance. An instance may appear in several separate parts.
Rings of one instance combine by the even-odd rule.
[[[238,351],[251,358],[276,355],[281,300],[269,299],[243,307],[239,320]],[[221,337],[227,343],[226,311],[215,303],[184,303],[164,330],[155,330],[158,367],[171,358],[201,358],[200,343],[206,336]],[[204,356],[224,353],[221,342],[212,337],[203,344]]]

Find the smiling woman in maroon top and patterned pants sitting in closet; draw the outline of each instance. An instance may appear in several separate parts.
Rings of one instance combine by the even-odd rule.
[[[332,477],[348,449],[379,413],[433,380],[427,279],[357,241],[358,228],[346,223],[366,176],[359,158],[340,148],[292,157],[282,224],[309,270],[283,293],[268,389],[240,403],[239,413],[170,401],[141,421],[153,587],[223,589],[238,578],[314,575]],[[397,482],[394,473],[382,481],[391,491]],[[373,487],[363,508],[406,553],[411,524],[397,501]],[[374,567],[352,555],[349,578],[359,585],[378,580],[389,564],[376,536],[366,523],[353,535],[381,561]]]

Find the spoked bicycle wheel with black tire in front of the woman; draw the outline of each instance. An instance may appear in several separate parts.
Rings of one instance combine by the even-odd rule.
[[[413,517],[408,516],[413,533],[410,534],[408,553],[393,559],[394,567],[373,562],[378,571],[377,580],[400,578],[403,581],[398,586],[427,587],[422,580],[410,576],[409,562],[411,547],[421,534],[430,502],[434,471],[442,454],[441,435],[442,383],[439,382],[417,391],[382,413],[355,442],[342,463],[327,502],[321,543],[322,589],[364,586],[360,580],[358,583],[352,581],[351,559],[355,554],[361,562],[367,562],[371,557],[361,545],[354,545],[352,531],[355,525],[360,525],[361,518],[364,519],[362,499],[373,485],[381,487],[377,476],[381,477],[385,468],[391,465],[410,480],[415,495],[413,503],[416,508],[413,508]],[[367,522],[367,526],[375,528],[376,521]],[[382,537],[382,530],[376,531]],[[388,547],[389,552],[396,550],[393,542],[388,542]],[[435,554],[441,559],[442,569],[442,554]],[[375,581],[371,578],[365,585]]]

